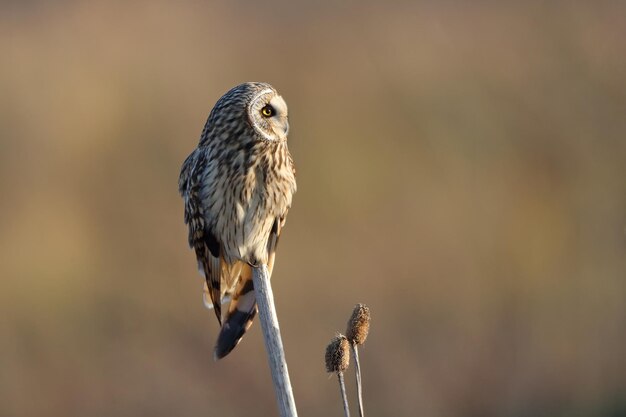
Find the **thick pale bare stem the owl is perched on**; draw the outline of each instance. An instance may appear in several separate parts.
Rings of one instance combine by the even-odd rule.
[[[267,266],[261,265],[252,269],[252,280],[256,302],[259,307],[259,321],[265,339],[267,358],[272,373],[276,401],[281,417],[297,417],[296,403],[293,399],[293,390],[289,381],[289,371],[285,361],[285,351],[280,337],[278,317],[274,306],[274,294],[270,285]]]

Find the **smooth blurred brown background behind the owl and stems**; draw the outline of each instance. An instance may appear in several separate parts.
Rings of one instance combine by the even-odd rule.
[[[0,415],[276,414],[258,323],[213,362],[177,191],[251,80],[301,416],[357,302],[370,416],[626,415],[625,40],[624,2],[2,2]]]

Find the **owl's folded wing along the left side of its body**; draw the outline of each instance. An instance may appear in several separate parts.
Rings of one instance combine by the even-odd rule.
[[[178,188],[185,200],[185,223],[189,227],[189,246],[196,252],[198,271],[204,276],[215,315],[222,324],[220,300],[221,264],[220,244],[206,224],[205,202],[200,197],[206,169],[204,153],[196,149],[183,163]]]

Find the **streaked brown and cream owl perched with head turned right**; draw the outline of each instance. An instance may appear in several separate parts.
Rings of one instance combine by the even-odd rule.
[[[269,84],[244,83],[217,101],[181,168],[189,246],[205,278],[205,304],[221,325],[216,360],[237,346],[256,315],[252,268],[265,264],[271,274],[274,266],[296,192],[287,133],[285,100]]]

